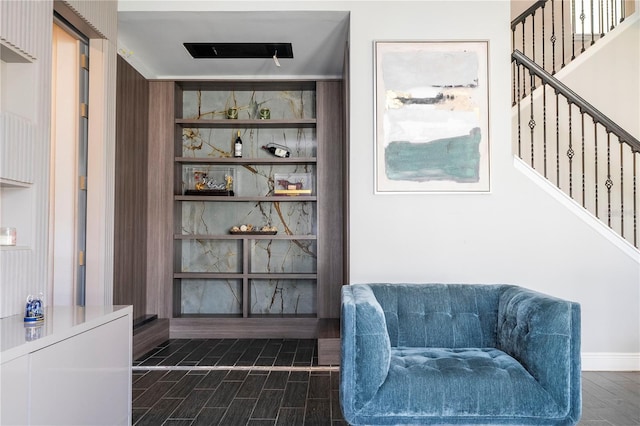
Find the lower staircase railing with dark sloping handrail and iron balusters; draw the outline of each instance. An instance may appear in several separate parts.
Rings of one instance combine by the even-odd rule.
[[[522,52],[511,58],[518,156],[640,248],[640,141]]]

